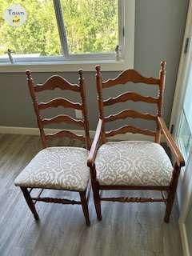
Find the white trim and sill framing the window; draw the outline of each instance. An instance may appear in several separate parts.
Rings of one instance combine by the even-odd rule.
[[[121,26],[119,44],[122,46],[122,58],[120,60],[115,60],[115,54],[73,54],[69,55],[68,58],[63,56],[39,57],[38,62],[35,62],[36,58],[30,58],[30,62],[27,58],[17,58],[13,64],[0,58],[0,73],[24,72],[26,69],[30,69],[32,72],[77,71],[79,68],[93,71],[97,64],[102,65],[103,71],[133,68],[135,0],[119,0],[118,10],[121,12],[118,14],[119,26]],[[122,29],[124,37],[122,36]],[[60,29],[58,28],[58,30]],[[60,32],[59,35],[62,36]],[[67,55],[67,49],[64,49],[63,46],[62,51],[65,51],[65,55]]]

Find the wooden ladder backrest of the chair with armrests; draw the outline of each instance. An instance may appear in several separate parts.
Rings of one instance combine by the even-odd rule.
[[[163,104],[163,94],[165,87],[165,79],[166,79],[166,62],[161,62],[161,70],[159,72],[159,78],[145,78],[141,74],[139,74],[135,70],[125,70],[121,74],[119,74],[114,79],[108,79],[106,81],[102,80],[101,74],[101,66],[96,66],[96,83],[98,90],[98,108],[99,108],[99,118],[103,120],[103,129],[102,129],[102,143],[106,142],[106,138],[110,136],[114,136],[116,134],[126,134],[128,132],[134,134],[145,134],[154,136],[155,142],[160,142],[161,131],[158,127],[158,117],[162,116],[162,104]],[[143,96],[141,94],[137,94],[133,91],[128,91],[124,94],[120,94],[115,98],[107,98],[103,100],[102,90],[105,88],[110,88],[112,86],[116,86],[118,84],[125,84],[126,82],[134,82],[134,83],[143,83],[150,86],[158,85],[158,95],[157,97]],[[105,116],[104,107],[110,106],[118,102],[126,102],[126,101],[134,101],[134,102],[147,102],[157,104],[158,111],[157,114],[149,114],[142,113],[136,110],[126,109],[118,114],[111,114],[109,116]],[[141,129],[137,126],[122,126],[117,130],[105,130],[105,123],[111,122],[116,119],[124,119],[124,118],[142,118],[146,120],[154,120],[157,123],[156,130],[148,130]]]

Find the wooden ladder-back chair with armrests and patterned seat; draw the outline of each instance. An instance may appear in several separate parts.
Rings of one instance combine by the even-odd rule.
[[[94,191],[94,204],[98,220],[102,219],[101,201],[112,202],[165,202],[165,222],[169,222],[174,203],[175,191],[181,166],[185,165],[182,154],[178,150],[166,123],[162,118],[163,92],[166,78],[166,62],[161,63],[159,78],[144,78],[135,70],[125,70],[118,77],[102,81],[100,66],[96,66],[96,83],[98,90],[99,121],[94,142],[90,149],[87,165],[91,170],[91,182]],[[103,100],[102,90],[125,84],[126,82],[158,85],[158,96],[142,96],[128,91],[115,98]],[[135,110],[123,110],[118,114],[105,116],[104,107],[126,101],[147,102],[157,105],[157,114],[141,113]],[[122,126],[117,130],[106,131],[106,122],[124,118],[142,118],[156,122],[156,130],[141,129],[136,126]],[[116,134],[145,134],[154,136],[154,142],[123,141],[106,142],[106,138]],[[161,134],[174,157],[174,167],[165,150],[160,146]],[[98,147],[98,142],[102,146]],[[100,190],[159,190],[162,198],[103,198]],[[167,196],[165,195],[167,192]]]

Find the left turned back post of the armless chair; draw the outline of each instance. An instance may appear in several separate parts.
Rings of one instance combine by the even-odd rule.
[[[37,116],[38,128],[40,130],[40,135],[41,135],[41,139],[42,139],[42,146],[44,148],[46,148],[46,135],[45,135],[45,132],[43,130],[42,121],[41,121],[41,118],[40,118],[40,113],[39,113],[39,109],[38,109],[38,100],[37,100],[36,95],[35,95],[34,82],[33,82],[33,78],[31,77],[30,70],[26,70],[26,80],[28,82],[28,86],[29,86],[29,89],[30,89],[30,96],[33,100],[34,112],[36,113],[36,116]]]

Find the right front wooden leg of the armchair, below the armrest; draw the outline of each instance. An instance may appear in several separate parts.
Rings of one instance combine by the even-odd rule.
[[[166,204],[166,214],[165,214],[165,218],[164,218],[164,221],[166,223],[170,222],[170,214],[171,214],[171,210],[174,205],[174,197],[175,197],[175,193],[176,193],[177,186],[178,186],[178,177],[180,174],[180,170],[181,170],[181,167],[178,166],[178,164],[176,163],[174,166],[173,178],[170,182],[170,191],[168,192],[168,198],[167,198],[167,204]]]

